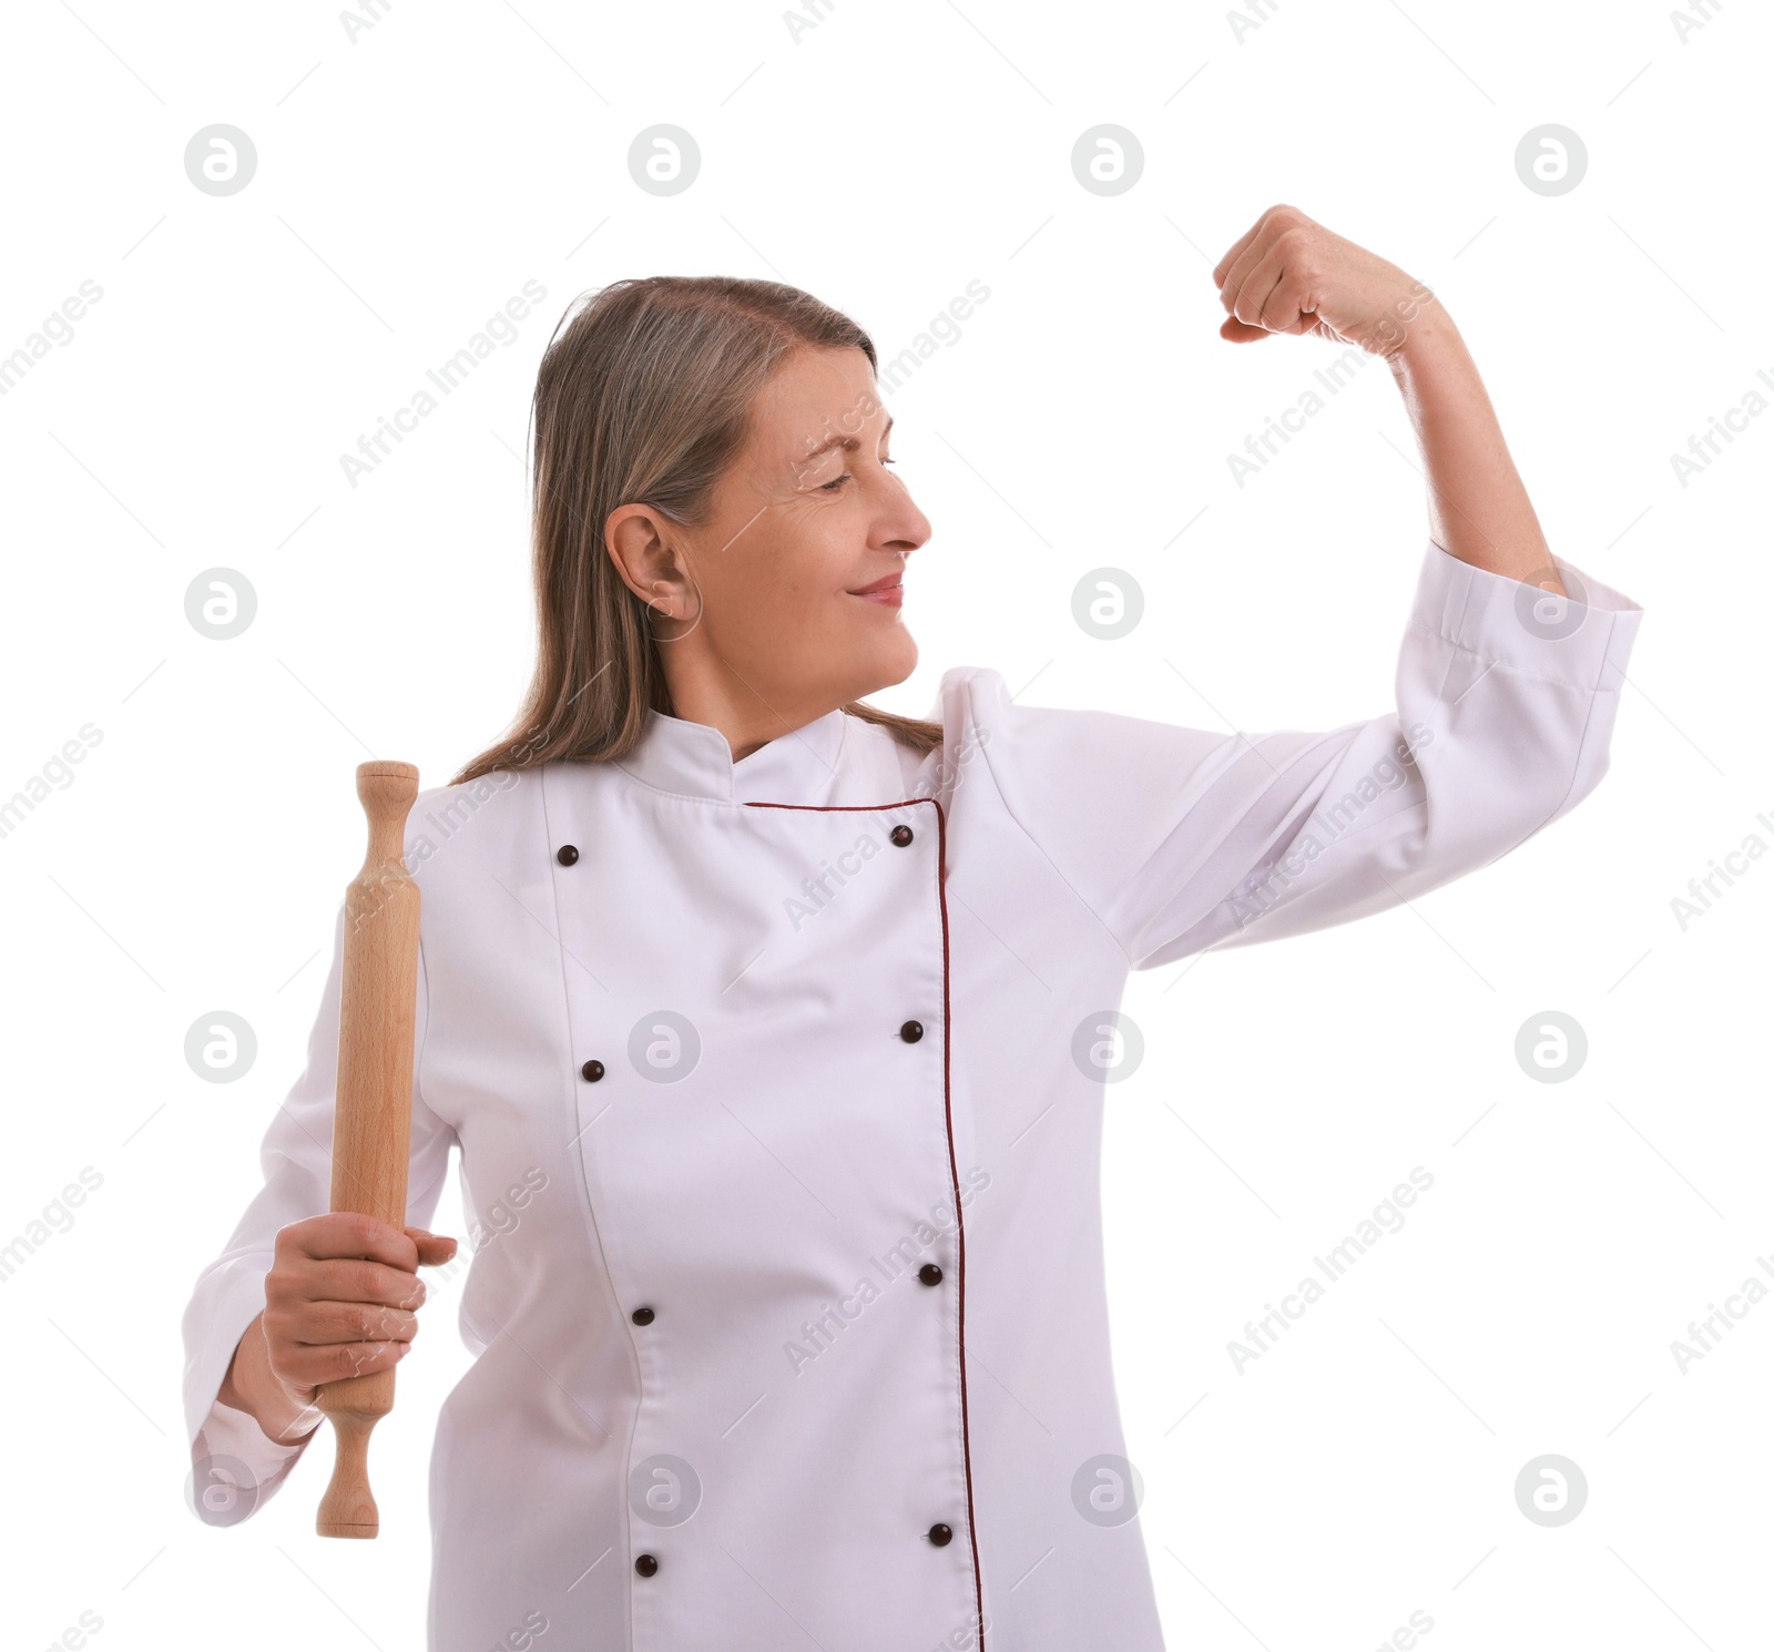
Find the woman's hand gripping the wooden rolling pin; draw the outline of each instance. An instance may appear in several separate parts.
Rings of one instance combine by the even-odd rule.
[[[419,1331],[419,1269],[454,1255],[454,1239],[348,1210],[280,1228],[261,1315],[271,1375],[309,1407],[326,1382],[396,1365]]]

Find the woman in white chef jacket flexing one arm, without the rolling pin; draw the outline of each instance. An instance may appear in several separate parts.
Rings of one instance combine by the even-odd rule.
[[[564,323],[534,683],[408,820],[412,1226],[323,1214],[341,910],[264,1187],[184,1317],[197,1482],[234,1489],[206,1517],[284,1483],[319,1384],[406,1352],[456,1145],[483,1242],[431,1652],[1162,1647],[1098,1214],[1126,974],[1378,912],[1558,820],[1643,618],[1549,554],[1421,284],[1286,206],[1213,279],[1226,339],[1382,355],[1416,426],[1432,539],[1368,722],[1041,710],[974,665],[928,722],[866,706],[917,660],[931,532],[869,339],[713,277]]]

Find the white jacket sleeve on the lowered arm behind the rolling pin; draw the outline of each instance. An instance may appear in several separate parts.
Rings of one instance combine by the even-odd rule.
[[[216,1393],[241,1334],[264,1308],[277,1230],[332,1207],[334,1098],[339,1077],[339,990],[344,972],[344,903],[334,921],[334,955],[319,1013],[309,1033],[309,1059],[279,1105],[259,1148],[264,1185],[247,1205],[234,1235],[192,1290],[184,1310],[184,1423],[192,1448],[195,1514],[232,1526],[282,1485],[314,1434],[291,1446],[270,1439],[257,1420]],[[419,1093],[429,992],[424,948],[413,1013],[413,1123],[406,1175],[406,1223],[426,1226],[436,1210],[456,1132]],[[316,1425],[321,1414],[314,1412]]]

